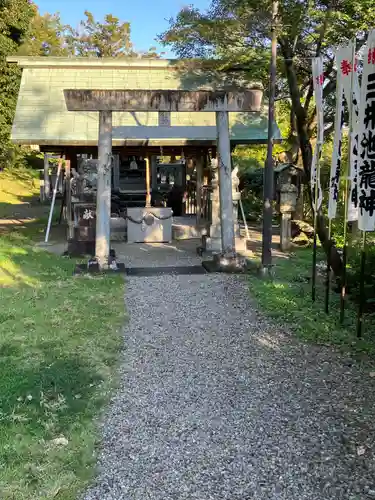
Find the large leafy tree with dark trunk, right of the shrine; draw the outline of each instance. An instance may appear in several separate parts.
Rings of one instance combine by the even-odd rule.
[[[219,70],[242,72],[261,79],[267,87],[271,0],[213,0],[206,12],[189,7],[170,20],[160,40],[180,57],[205,57]],[[324,97],[326,134],[332,132],[336,71],[333,48],[358,36],[358,47],[375,24],[372,0],[280,0],[277,20],[279,54],[278,99],[291,104],[290,143],[295,161],[300,156],[305,179],[310,179],[311,139],[316,134],[311,58],[325,60]],[[310,189],[308,190],[311,192]],[[341,274],[342,263],[327,237],[322,214],[318,235],[332,268]]]

